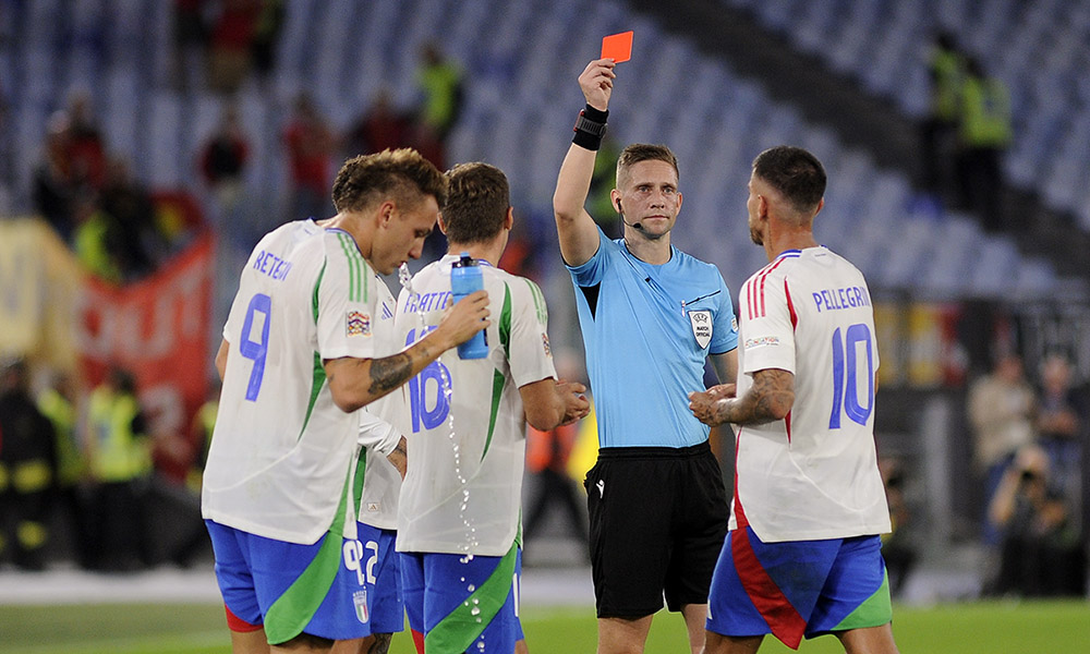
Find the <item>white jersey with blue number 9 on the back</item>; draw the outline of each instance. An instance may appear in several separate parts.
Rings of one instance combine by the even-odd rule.
[[[354,534],[347,499],[359,416],[334,403],[323,360],[375,356],[376,281],[350,234],[312,220],[254,249],[223,328],[230,351],[205,518],[311,544],[342,511]]]

